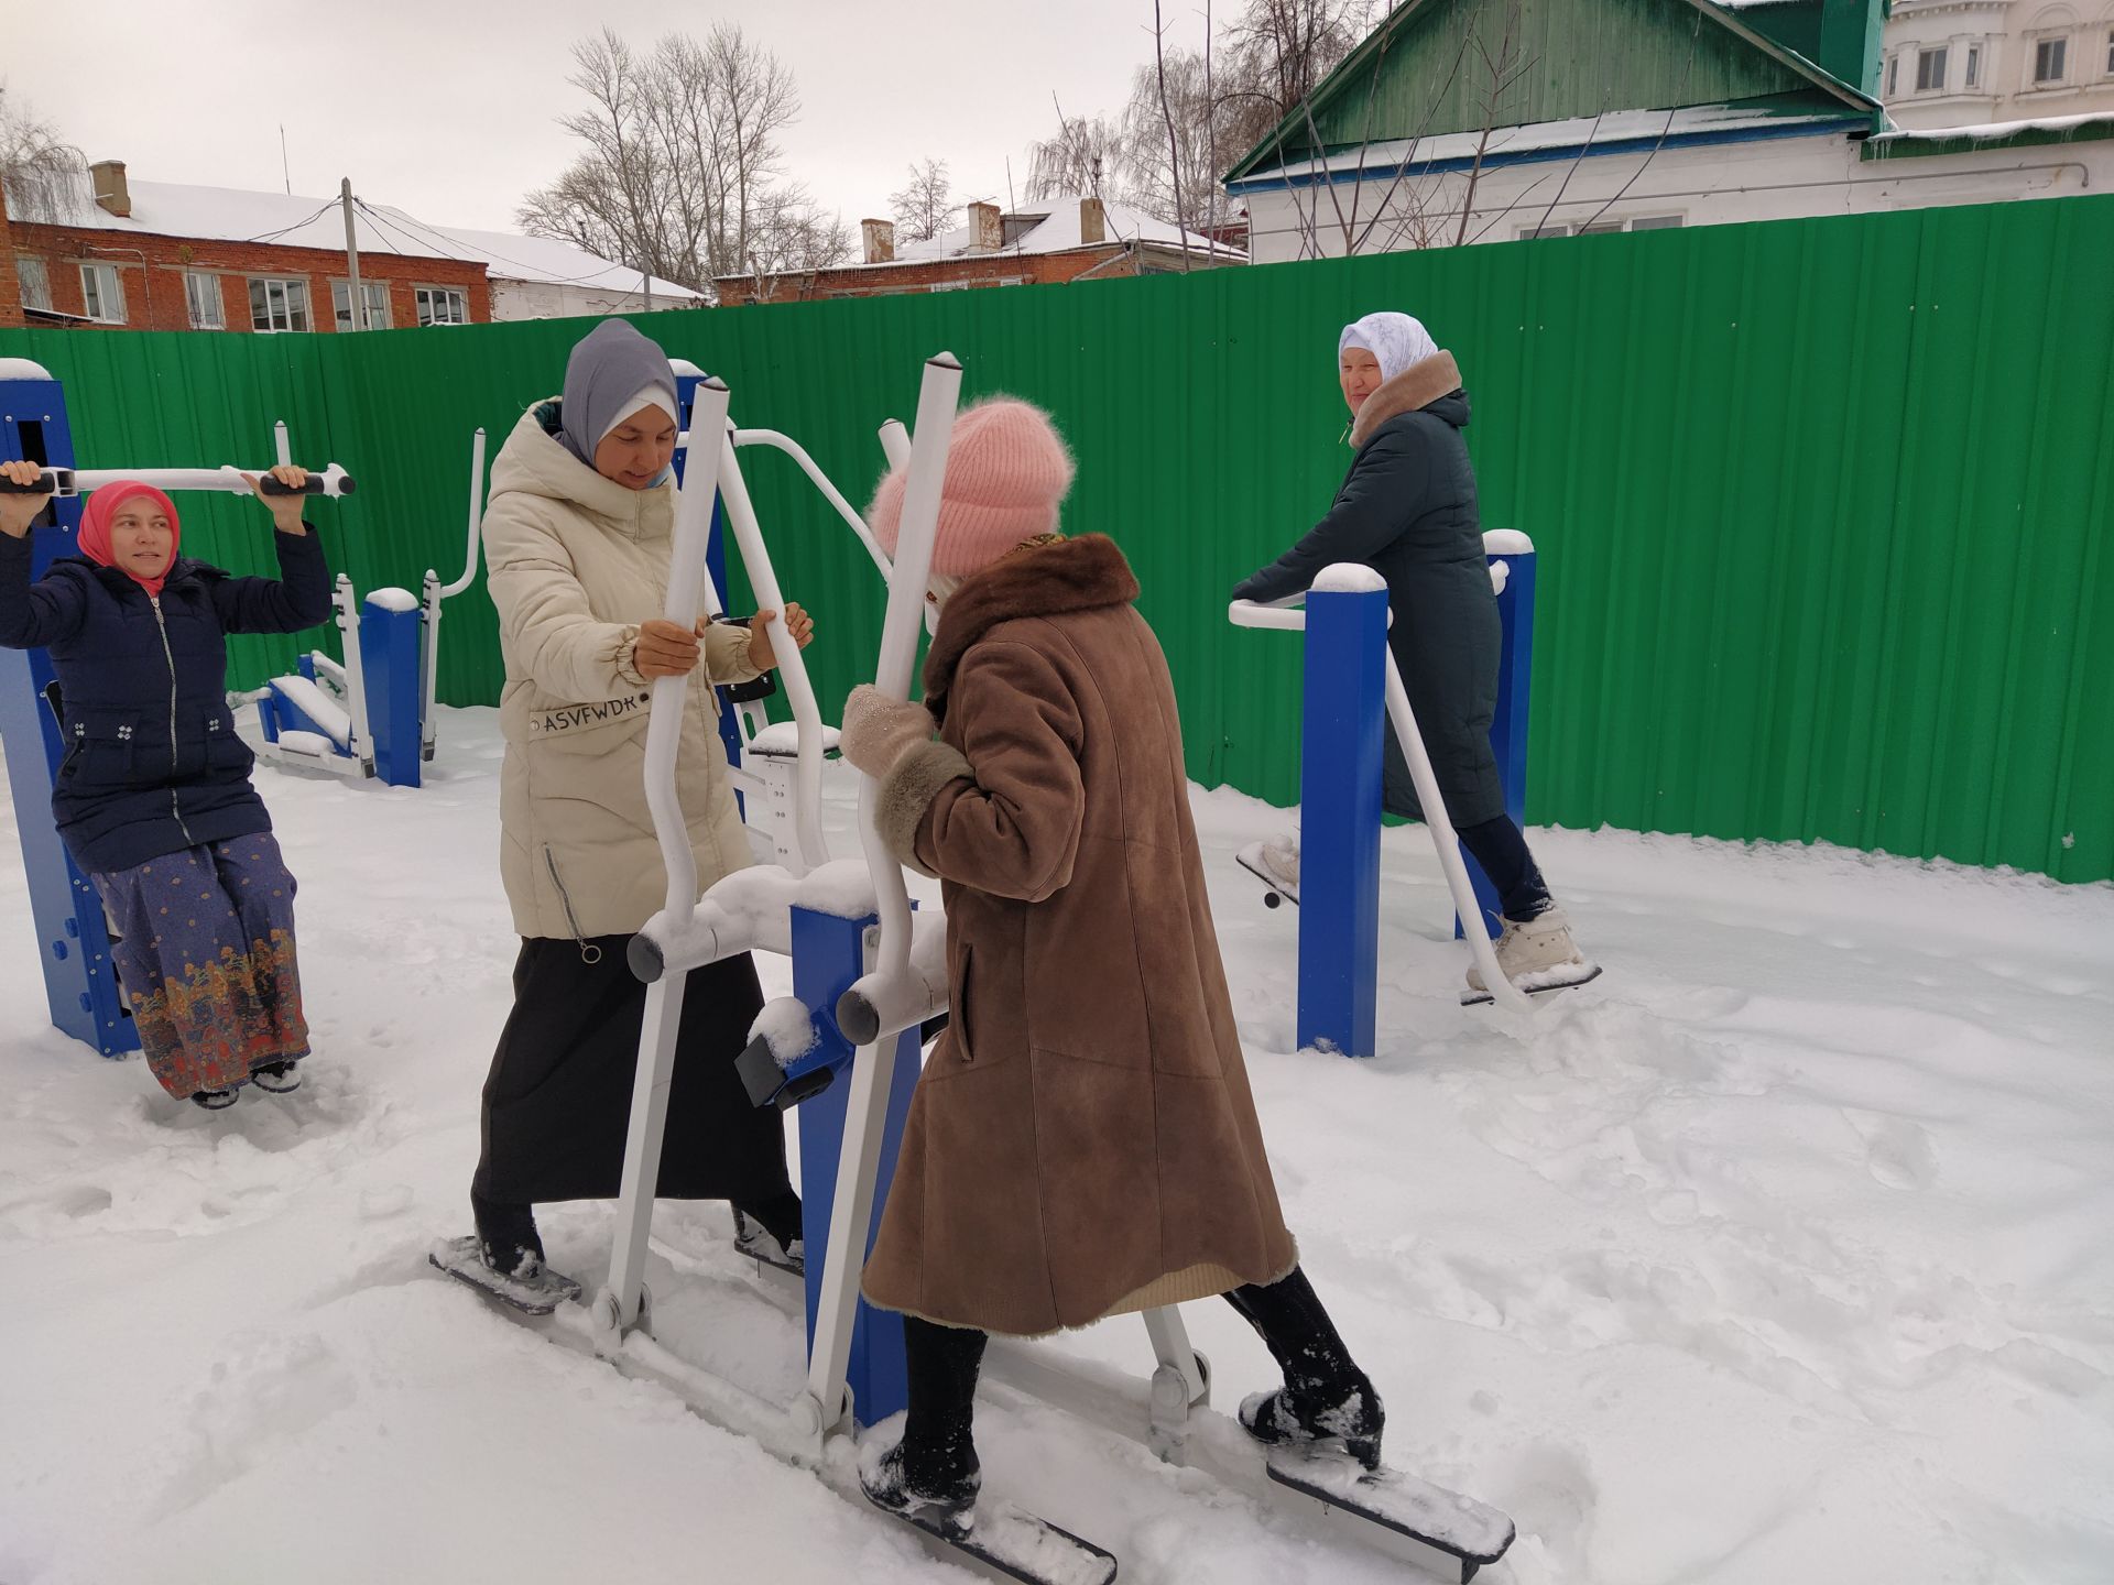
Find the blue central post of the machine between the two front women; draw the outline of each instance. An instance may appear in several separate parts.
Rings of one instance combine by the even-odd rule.
[[[837,997],[867,972],[867,930],[875,919],[837,919],[829,913],[793,909],[793,995],[814,1008],[822,1048],[803,1059],[801,1067],[841,1063],[837,1082],[797,1107],[799,1116],[799,1194],[801,1238],[808,1243],[808,1346],[814,1348],[814,1323],[822,1304],[822,1251],[829,1247],[829,1222],[837,1202],[837,1158],[843,1150],[843,1114],[852,1086],[846,1078],[852,1044],[837,1029]],[[917,1088],[917,1031],[905,1029],[886,1052],[888,1122],[882,1133],[882,1154],[875,1164],[873,1222],[860,1262],[873,1251],[888,1205],[888,1183],[896,1175],[896,1152],[903,1148],[903,1124]],[[909,1405],[909,1376],[903,1363],[903,1317],[858,1302],[852,1327],[852,1361],[846,1369],[852,1388],[852,1416],[860,1426],[886,1420]]]

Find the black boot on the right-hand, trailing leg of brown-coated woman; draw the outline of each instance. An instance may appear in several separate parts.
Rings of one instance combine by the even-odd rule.
[[[1306,1274],[1294,1266],[1268,1287],[1232,1289],[1226,1302],[1285,1372],[1281,1388],[1241,1401],[1247,1435],[1273,1443],[1334,1441],[1366,1469],[1378,1469],[1387,1412],[1372,1378],[1342,1346]]]

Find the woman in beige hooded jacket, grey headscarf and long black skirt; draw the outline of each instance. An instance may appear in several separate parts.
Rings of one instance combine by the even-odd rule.
[[[522,1283],[543,1281],[535,1202],[611,1198],[624,1171],[645,1019],[624,949],[668,885],[645,799],[651,683],[700,661],[715,685],[772,666],[772,611],[696,632],[660,619],[674,440],[666,355],[611,319],[573,349],[564,395],[522,414],[493,463],[484,560],[507,666],[499,862],[522,949],[469,1198],[484,1264]],[[789,602],[784,619],[805,647],[808,615]],[[750,862],[717,714],[715,687],[689,689],[676,784],[700,888]],[[797,1255],[780,1118],[753,1107],[734,1071],[761,1006],[746,953],[691,972],[657,1194],[734,1200]]]

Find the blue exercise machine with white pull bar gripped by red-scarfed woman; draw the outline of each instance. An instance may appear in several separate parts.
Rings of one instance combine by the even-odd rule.
[[[59,556],[72,556],[80,533],[80,497],[116,480],[140,480],[156,490],[220,490],[249,495],[239,467],[74,467],[74,431],[66,416],[66,389],[42,366],[25,357],[0,359],[0,461],[40,463],[44,476],[23,490],[0,480],[0,490],[38,495],[53,490],[51,520],[36,526],[32,577]],[[279,461],[288,456],[281,450]],[[273,478],[266,495],[285,495]],[[311,469],[304,495],[345,497],[353,480],[332,463]],[[59,725],[47,708],[55,683],[51,657],[42,649],[0,649],[0,738],[6,740],[8,788],[15,799],[15,831],[21,837],[23,873],[30,881],[30,913],[44,968],[51,1023],[104,1057],[140,1048],[131,1008],[118,991],[110,962],[110,930],[101,898],[74,866],[51,820],[51,786],[63,759]],[[40,767],[32,771],[32,767]]]

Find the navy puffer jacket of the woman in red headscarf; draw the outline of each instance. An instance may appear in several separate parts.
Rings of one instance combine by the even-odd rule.
[[[30,537],[0,535],[0,645],[51,651],[66,700],[51,812],[82,871],[271,831],[228,712],[226,636],[300,632],[330,615],[321,541],[273,539],[279,579],[178,558],[150,598],[82,556],[32,583]]]

